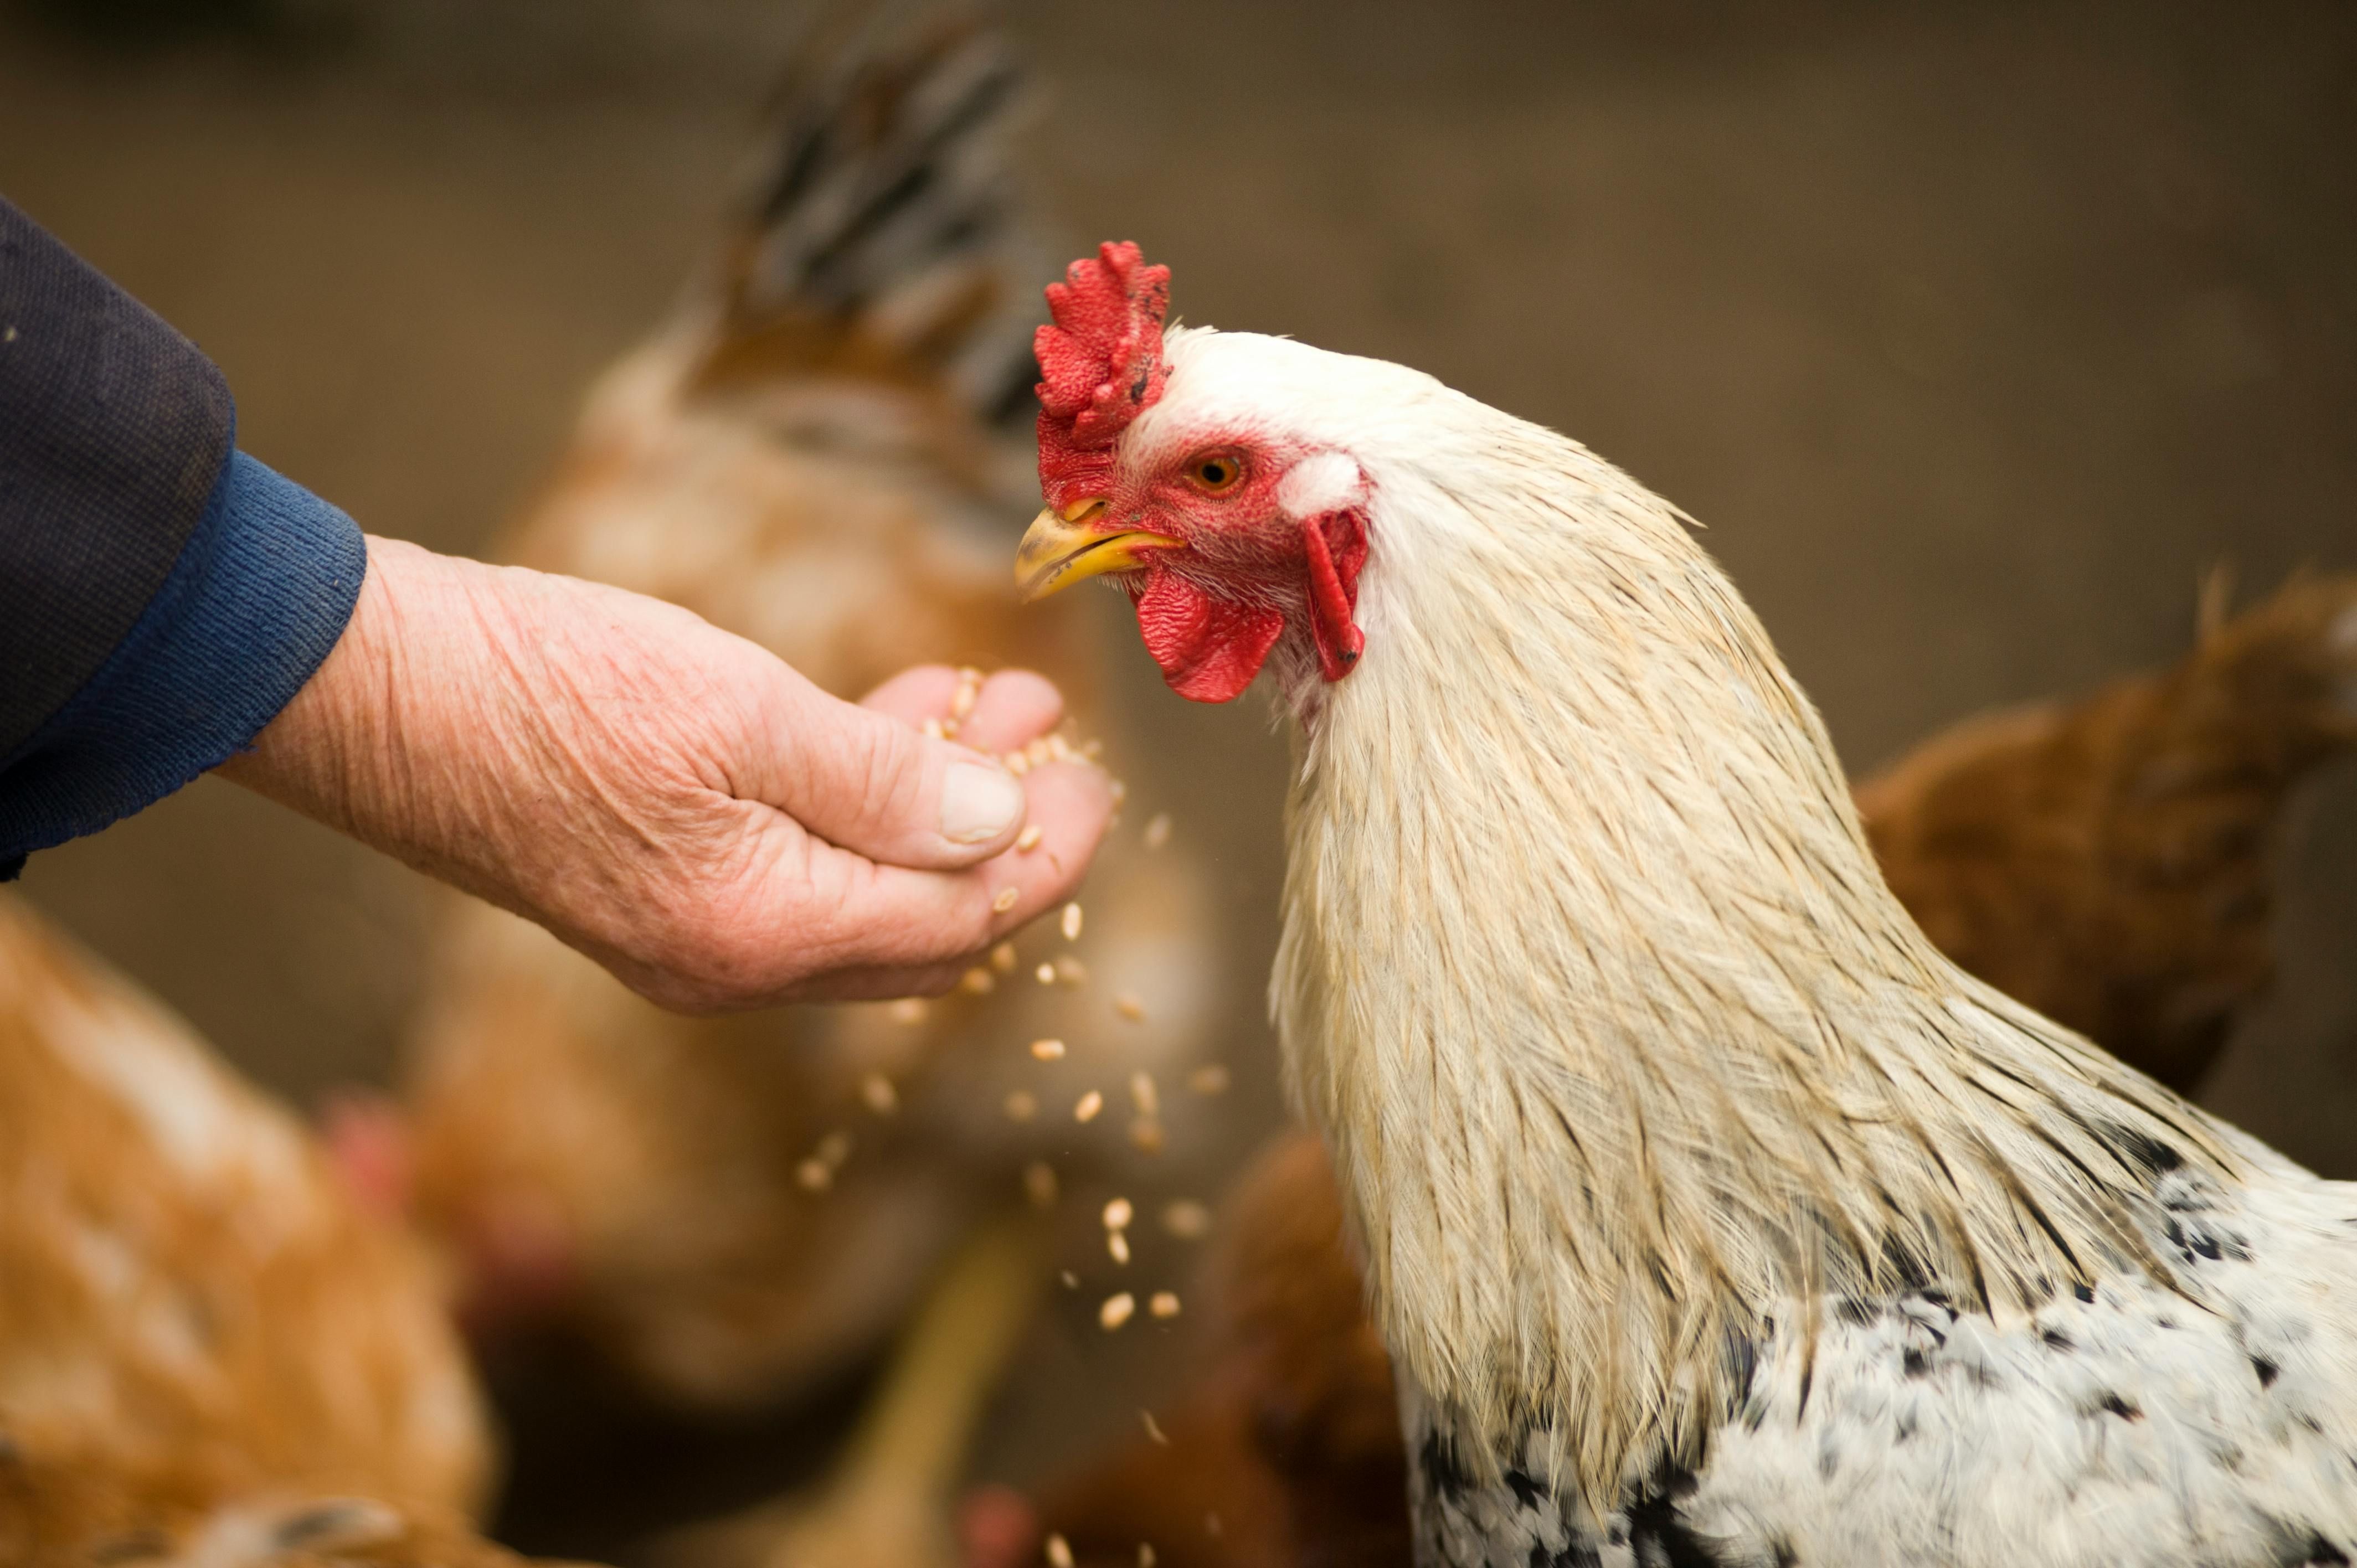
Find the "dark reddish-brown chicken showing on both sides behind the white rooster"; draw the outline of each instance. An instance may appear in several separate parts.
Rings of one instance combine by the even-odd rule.
[[[1857,788],[1893,889],[1947,953],[2178,1087],[2267,990],[2286,797],[2357,745],[2357,578],[2293,580],[2232,620],[2211,606],[2180,663],[1970,719]],[[1042,1530],[1080,1563],[1150,1544],[1164,1568],[1405,1568],[1391,1361],[1315,1137],[1240,1177],[1200,1294],[1169,1443],[1054,1488]]]

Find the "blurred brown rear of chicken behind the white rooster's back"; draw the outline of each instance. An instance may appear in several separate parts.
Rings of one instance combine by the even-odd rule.
[[[2187,1087],[2275,976],[2291,790],[2357,747],[2357,578],[2296,578],[2171,670],[1959,726],[1857,790],[1966,969]]]

